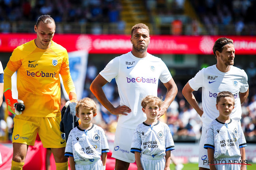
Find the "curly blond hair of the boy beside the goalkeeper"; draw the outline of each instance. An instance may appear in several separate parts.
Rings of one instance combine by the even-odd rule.
[[[97,113],[96,103],[91,98],[85,97],[77,102],[77,104],[75,106],[75,112],[77,115],[78,115],[78,111],[79,111],[80,107],[84,107],[86,109],[92,109],[93,115],[95,115],[95,113]]]

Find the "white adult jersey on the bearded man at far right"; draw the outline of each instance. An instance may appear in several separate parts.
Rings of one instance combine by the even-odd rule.
[[[241,119],[242,109],[239,92],[248,90],[247,74],[240,68],[230,66],[228,72],[221,72],[216,65],[203,68],[194,78],[188,81],[193,90],[202,87],[202,105],[203,115],[202,122],[204,127],[219,116],[216,109],[216,97],[221,91],[230,91],[235,98],[235,105],[230,118],[239,121]]]

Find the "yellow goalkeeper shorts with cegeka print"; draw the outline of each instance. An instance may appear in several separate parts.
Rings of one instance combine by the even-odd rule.
[[[60,131],[61,116],[30,117],[15,115],[12,134],[13,143],[34,145],[37,133],[44,148],[66,147],[65,133]]]

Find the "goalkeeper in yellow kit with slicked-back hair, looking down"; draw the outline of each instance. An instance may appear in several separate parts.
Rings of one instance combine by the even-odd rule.
[[[55,21],[42,15],[34,26],[37,38],[14,49],[4,70],[4,96],[14,117],[13,159],[11,170],[24,166],[27,148],[34,145],[37,133],[44,148],[51,148],[57,170],[68,170],[65,157],[65,134],[60,131],[60,77],[71,102],[76,102],[74,83],[70,76],[68,53],[52,38]],[[18,99],[12,98],[11,76],[17,71]],[[16,103],[26,109],[17,111]]]

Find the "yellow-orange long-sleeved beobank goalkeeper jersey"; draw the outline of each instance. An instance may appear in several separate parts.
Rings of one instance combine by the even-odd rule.
[[[67,50],[54,41],[51,41],[51,47],[48,49],[40,49],[34,40],[29,41],[13,51],[4,75],[9,77],[16,70],[18,99],[23,100],[25,104],[22,115],[60,116],[59,74],[68,76],[71,80],[73,89],[69,89],[68,94],[74,90]],[[6,84],[4,90],[7,88],[11,88],[11,83]]]

